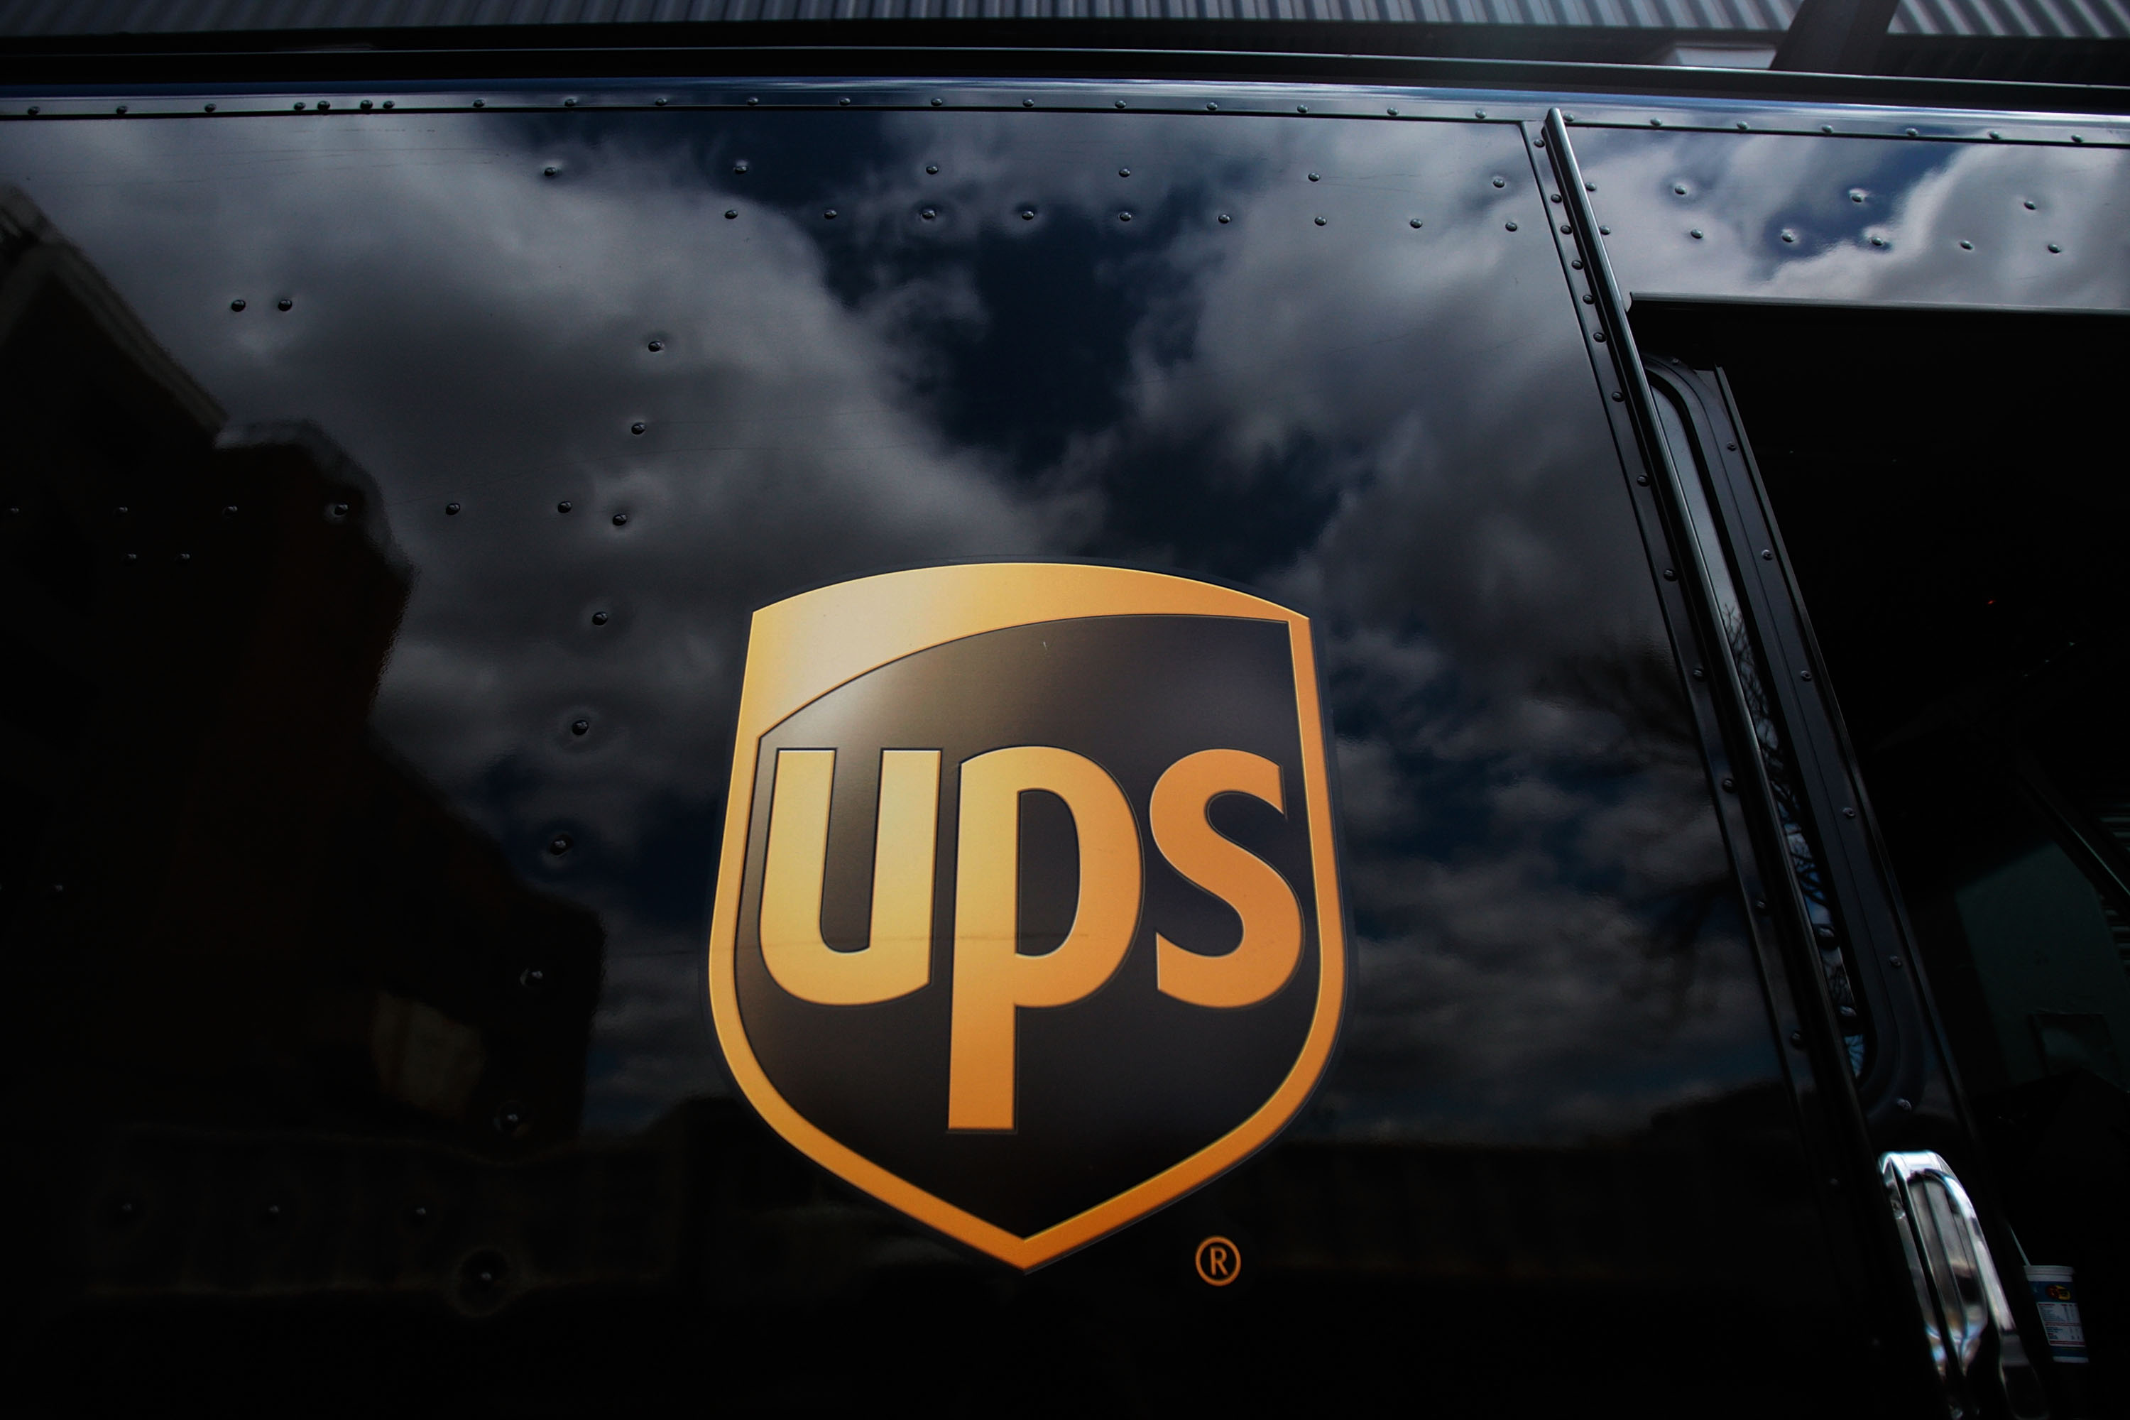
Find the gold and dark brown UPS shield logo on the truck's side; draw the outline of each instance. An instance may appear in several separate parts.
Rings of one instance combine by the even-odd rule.
[[[1306,617],[1084,564],[754,615],[718,1039],[822,1167],[1016,1267],[1197,1188],[1323,1073],[1346,947]]]

